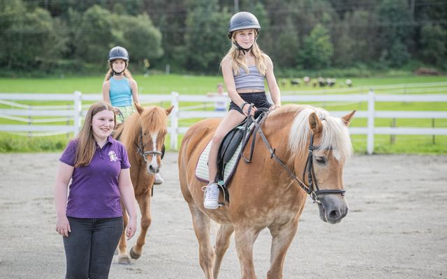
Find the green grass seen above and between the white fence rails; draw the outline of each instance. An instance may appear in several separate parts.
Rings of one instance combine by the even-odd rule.
[[[191,75],[150,75],[144,77],[136,75],[140,94],[169,94],[177,91],[180,94],[205,94],[215,91],[216,85],[223,82],[221,75],[191,76]],[[369,88],[390,84],[417,84],[430,82],[447,82],[447,77],[417,77],[413,75],[405,77],[376,77],[376,78],[352,78],[353,89],[341,86],[345,79],[337,79],[337,84],[333,89],[325,89],[325,93],[367,93]],[[284,84],[279,79],[279,86],[284,93],[301,93],[303,91],[320,92],[320,88],[313,86],[292,86],[290,80],[285,80]],[[0,93],[101,93],[103,77],[66,77],[60,79],[6,79],[0,78]],[[345,92],[346,88],[346,92]],[[358,91],[352,91],[356,90]],[[410,93],[433,93],[420,90]],[[386,91],[375,90],[376,93],[387,93]],[[398,89],[394,93],[407,93],[406,86],[402,90]],[[441,86],[440,90],[434,93],[447,93],[447,86]],[[29,105],[66,105],[64,102],[41,102],[28,101],[20,102]],[[168,103],[164,103],[168,106]],[[200,105],[198,103],[181,103],[183,106]],[[367,103],[313,103],[318,107],[325,107],[326,110],[366,110]],[[0,107],[8,107],[0,105]],[[446,111],[446,103],[378,103],[378,110],[419,110],[419,111]],[[212,106],[204,107],[203,110],[213,110]],[[191,126],[199,119],[186,119],[179,122],[179,126]],[[360,127],[366,125],[366,119],[353,119],[351,126]],[[376,119],[376,126],[391,126],[393,119]],[[0,119],[0,125],[5,123],[20,123],[10,119]],[[59,124],[64,124],[59,123]],[[398,127],[437,127],[447,128],[447,119],[397,119]],[[10,133],[0,133],[0,152],[36,152],[36,151],[60,151],[70,136],[56,135],[51,137],[27,137],[23,135],[11,135]],[[352,135],[354,150],[359,153],[366,151],[366,136]],[[169,139],[166,139],[168,146]],[[397,135],[376,135],[374,144],[375,153],[447,153],[446,136],[409,136]]]

